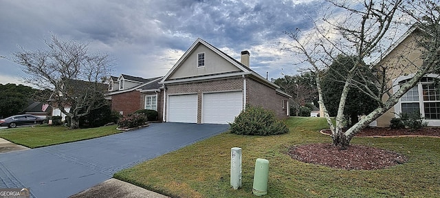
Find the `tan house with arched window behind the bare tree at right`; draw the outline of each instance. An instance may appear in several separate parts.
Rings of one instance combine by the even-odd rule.
[[[408,52],[408,55],[404,57],[408,61],[401,61],[401,65],[410,63],[415,63],[416,66],[419,66],[423,63],[421,57],[420,50],[408,50],[408,49],[417,49],[417,43],[415,42],[415,38],[419,34],[419,30],[416,27],[410,28],[404,34],[390,50],[386,52],[386,56],[382,59],[382,61],[378,62],[375,65],[386,65],[386,64],[395,64],[397,61],[401,61],[401,53],[399,52]],[[407,65],[406,65],[407,66]],[[388,72],[389,76],[392,76],[390,85],[393,85],[393,92],[399,89],[399,83],[403,83],[405,80],[408,80],[414,76],[416,70],[415,66],[408,66],[404,69],[400,68],[399,72],[395,72],[395,74],[391,73],[395,70],[391,70]],[[401,74],[401,71],[404,71],[404,74]],[[398,76],[400,75],[400,76]],[[417,86],[412,87],[404,96],[399,99],[399,102],[395,104],[393,108],[388,110],[384,115],[377,118],[374,122],[372,122],[371,126],[380,126],[380,127],[388,127],[390,125],[390,120],[395,118],[399,113],[410,113],[413,111],[421,113],[422,117],[428,122],[429,126],[440,126],[440,92],[439,87],[434,83],[436,80],[439,80],[440,76],[437,74],[427,74],[425,77],[421,78],[420,82]]]

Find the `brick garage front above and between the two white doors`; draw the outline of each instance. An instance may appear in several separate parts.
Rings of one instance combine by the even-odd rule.
[[[201,96],[206,92],[213,91],[236,91],[243,90],[243,78],[228,78],[222,80],[210,80],[197,83],[182,83],[166,85],[166,94],[197,94],[197,123],[201,123]],[[166,119],[165,119],[166,120]]]

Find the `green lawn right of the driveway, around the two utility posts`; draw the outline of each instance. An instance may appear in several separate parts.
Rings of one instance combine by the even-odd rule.
[[[115,178],[171,197],[255,197],[252,195],[255,159],[270,161],[265,197],[438,197],[440,195],[440,138],[354,138],[364,144],[404,153],[408,162],[384,170],[338,170],[298,162],[285,153],[293,145],[331,142],[318,133],[322,118],[291,118],[290,132],[268,137],[230,133],[217,135],[168,153]],[[243,188],[230,188],[230,148],[243,153]]]

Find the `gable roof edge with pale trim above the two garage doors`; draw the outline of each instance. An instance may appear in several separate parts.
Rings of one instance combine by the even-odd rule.
[[[161,84],[179,83],[179,82],[184,82],[184,81],[188,80],[188,79],[168,80],[168,78],[176,71],[176,69],[178,69],[180,67],[181,63],[186,61],[188,56],[190,56],[190,54],[192,54],[192,52],[194,52],[194,50],[199,45],[205,45],[210,50],[212,50],[212,52],[218,54],[219,56],[224,58],[226,61],[228,61],[229,63],[231,63],[235,67],[237,67],[240,70],[240,72],[231,72],[231,73],[225,73],[225,74],[213,74],[213,75],[208,75],[208,76],[197,76],[197,77],[191,77],[191,78],[188,78],[188,79],[191,79],[191,80],[206,80],[206,79],[219,78],[219,77],[250,75],[250,76],[256,78],[257,80],[259,80],[261,83],[264,83],[265,85],[269,85],[270,87],[274,87],[276,89],[280,88],[275,83],[270,82],[269,80],[267,80],[263,76],[261,76],[261,75],[257,74],[256,72],[254,72],[249,67],[246,67],[245,65],[240,63],[240,61],[237,61],[235,58],[232,58],[231,56],[229,56],[225,52],[222,52],[221,50],[219,50],[217,47],[214,47],[214,45],[211,45],[210,43],[208,43],[206,41],[203,41],[203,39],[200,39],[200,38],[198,38],[194,43],[192,43],[190,48],[188,50],[186,50],[185,54],[179,58],[179,61],[177,61],[177,63],[175,63],[175,65],[170,69],[170,71],[168,71],[168,73],[166,73],[166,75],[160,81],[160,83]]]

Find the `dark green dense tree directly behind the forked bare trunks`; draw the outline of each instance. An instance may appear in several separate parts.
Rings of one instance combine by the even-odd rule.
[[[322,78],[322,97],[324,99],[325,107],[329,111],[330,116],[338,114],[339,101],[344,89],[344,78],[348,75],[351,68],[353,68],[353,59],[347,56],[338,56],[327,69],[325,77]],[[368,75],[368,72],[364,73]],[[368,85],[363,82],[364,79],[360,76],[353,78],[360,84]],[[370,87],[375,90],[375,87]],[[375,90],[377,92],[377,90]],[[358,122],[358,115],[367,115],[378,107],[379,103],[373,98],[364,94],[357,87],[352,87],[347,94],[347,102],[345,103],[344,115],[349,126]]]

